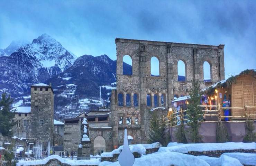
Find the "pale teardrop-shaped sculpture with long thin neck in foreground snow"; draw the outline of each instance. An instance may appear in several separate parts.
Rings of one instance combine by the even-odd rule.
[[[134,164],[134,155],[131,153],[127,138],[127,129],[125,129],[124,147],[118,156],[118,162],[121,166],[132,166]]]

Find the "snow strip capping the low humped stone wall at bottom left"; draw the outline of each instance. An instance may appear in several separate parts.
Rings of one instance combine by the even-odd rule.
[[[31,165],[44,165],[51,159],[57,159],[63,164],[78,166],[78,165],[98,165],[100,163],[99,159],[91,159],[91,160],[70,160],[66,158],[62,158],[58,155],[51,155],[46,157],[43,160],[20,160],[16,166],[31,166]]]

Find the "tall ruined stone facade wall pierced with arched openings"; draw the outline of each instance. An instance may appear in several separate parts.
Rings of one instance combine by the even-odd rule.
[[[192,80],[199,80],[201,89],[224,77],[224,45],[210,46],[169,42],[153,42],[116,38],[117,49],[117,89],[111,95],[111,125],[113,146],[122,144],[124,128],[135,142],[146,143],[149,129],[149,110],[154,107],[154,95],[158,105],[168,108],[174,95],[186,95]],[[132,59],[132,75],[123,75],[123,57]],[[159,60],[159,76],[151,76],[150,59]],[[185,63],[186,81],[178,81],[177,63]],[[207,61],[211,68],[211,82],[203,81],[203,63]],[[123,95],[123,106],[118,106],[118,94]],[[138,107],[134,107],[133,95],[138,96]],[[131,107],[126,107],[126,94],[130,94]],[[147,106],[147,94],[151,95],[151,106]],[[161,96],[164,103],[161,103]],[[123,123],[119,124],[119,117]],[[132,123],[126,124],[131,117]],[[138,124],[135,124],[138,118]]]

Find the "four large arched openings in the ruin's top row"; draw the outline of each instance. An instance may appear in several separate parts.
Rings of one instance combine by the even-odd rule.
[[[151,76],[160,75],[159,59],[155,56],[151,57],[150,59],[150,71]],[[186,65],[182,60],[178,61],[177,72],[178,81],[186,81]],[[129,55],[125,55],[123,57],[123,74],[132,75],[132,59]],[[207,61],[204,61],[203,63],[203,80],[205,82],[209,82],[211,80],[211,66]]]

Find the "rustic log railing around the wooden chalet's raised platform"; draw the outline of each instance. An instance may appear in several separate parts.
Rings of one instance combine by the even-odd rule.
[[[248,120],[248,119],[254,119],[254,120],[256,119],[255,112],[254,112],[254,114],[248,114],[248,111],[247,111],[247,108],[256,108],[256,106],[247,106],[245,104],[245,107],[221,107],[219,104],[219,105],[198,105],[198,107],[215,108],[215,110],[203,109],[202,110],[204,112],[203,117],[216,116],[216,117],[218,117],[218,120],[221,120],[222,118],[241,118],[241,119],[243,119],[242,121],[240,120],[240,121],[233,121],[233,122],[245,122],[245,120]],[[223,109],[223,110],[225,110],[225,109],[243,109],[243,110],[245,110],[245,114],[241,115],[241,116],[222,116],[221,109]],[[180,111],[172,113],[170,117],[166,117],[165,121],[164,121],[165,127],[166,128],[175,127],[179,124],[186,123],[188,121],[188,119],[186,118],[186,114],[184,114],[186,111],[187,110],[183,110],[181,108]],[[217,114],[207,114],[208,112],[217,112]],[[204,122],[218,122],[218,121],[204,121]],[[227,122],[230,122],[230,121],[227,121]]]

